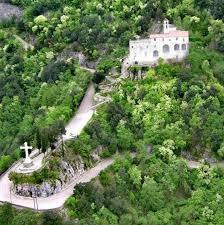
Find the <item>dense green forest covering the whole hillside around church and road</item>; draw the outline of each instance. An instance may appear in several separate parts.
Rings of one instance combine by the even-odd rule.
[[[163,225],[224,224],[222,168],[206,162],[189,169],[180,158],[224,158],[223,0],[11,0],[20,20],[0,23],[0,172],[31,140],[46,149],[63,132],[92,79],[120,67],[128,42],[145,37],[167,17],[190,31],[190,54],[181,64],[148,68],[126,79],[97,110],[77,140],[67,143],[88,161],[127,155],[85,185],[65,209],[33,213],[0,208],[0,224]],[[14,35],[32,42],[27,51]],[[96,73],[58,56],[64,49],[97,61]],[[97,87],[97,85],[96,85]],[[128,154],[135,152],[136,157]],[[38,222],[37,222],[38,221]]]

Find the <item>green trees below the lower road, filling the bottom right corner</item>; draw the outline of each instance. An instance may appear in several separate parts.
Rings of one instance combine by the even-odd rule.
[[[161,160],[145,150],[80,184],[66,206],[79,225],[223,224],[223,169]]]

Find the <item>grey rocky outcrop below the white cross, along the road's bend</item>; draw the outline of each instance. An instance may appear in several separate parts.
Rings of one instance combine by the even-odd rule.
[[[42,184],[19,184],[14,186],[14,192],[17,195],[24,197],[48,197],[56,194],[64,189],[75,178],[80,176],[85,171],[84,163],[81,157],[73,165],[66,161],[60,162],[60,175],[56,181],[45,181]]]

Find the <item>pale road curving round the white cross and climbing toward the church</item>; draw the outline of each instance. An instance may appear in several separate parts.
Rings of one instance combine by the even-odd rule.
[[[93,115],[93,99],[94,99],[94,87],[91,84],[80,104],[80,107],[66,126],[66,134],[64,135],[65,140],[74,138],[81,133],[82,129],[89,122]],[[39,156],[34,158],[34,161],[39,160]],[[91,179],[96,177],[102,170],[107,168],[113,163],[113,159],[106,159],[98,163],[95,167],[85,171],[78,178],[76,178],[67,188],[61,192],[49,196],[47,198],[33,198],[20,197],[14,195],[11,192],[12,182],[8,179],[8,175],[11,171],[15,171],[16,168],[21,164],[18,162],[12,168],[10,168],[3,176],[0,177],[0,202],[9,202],[15,206],[38,209],[38,210],[50,210],[60,208],[64,205],[66,199],[72,195],[74,186],[78,183],[89,182]],[[36,201],[36,202],[35,202]],[[37,207],[38,206],[38,207]]]

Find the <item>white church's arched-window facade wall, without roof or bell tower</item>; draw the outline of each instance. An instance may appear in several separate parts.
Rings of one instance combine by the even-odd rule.
[[[186,47],[186,49],[184,48],[184,46]],[[169,49],[169,51],[165,52],[167,48]],[[131,65],[152,65],[157,63],[159,58],[163,58],[165,61],[182,61],[184,58],[186,58],[188,52],[189,38],[186,36],[149,38],[130,41],[129,62]],[[158,53],[158,56],[156,53]]]

